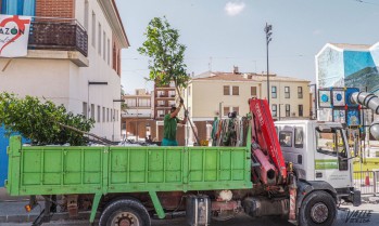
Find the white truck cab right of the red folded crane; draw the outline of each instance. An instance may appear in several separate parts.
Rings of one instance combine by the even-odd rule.
[[[342,199],[353,201],[354,194],[358,196],[346,131],[341,123],[290,120],[276,121],[275,127],[285,160],[293,163],[298,178],[328,182]]]

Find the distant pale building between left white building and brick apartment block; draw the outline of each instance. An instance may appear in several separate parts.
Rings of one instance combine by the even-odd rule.
[[[124,138],[134,136],[135,139],[144,139],[151,135],[152,95],[146,89],[137,89],[132,95],[124,95],[126,109],[122,114],[122,134]]]

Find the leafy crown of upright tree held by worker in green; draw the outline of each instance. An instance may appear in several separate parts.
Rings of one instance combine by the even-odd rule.
[[[170,27],[166,17],[154,17],[144,36],[147,40],[138,52],[150,57],[149,80],[160,87],[174,81],[177,88],[186,88],[189,80],[184,63],[186,46],[178,42],[179,31]]]

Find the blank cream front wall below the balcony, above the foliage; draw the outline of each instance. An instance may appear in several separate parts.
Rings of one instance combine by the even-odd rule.
[[[68,106],[70,61],[14,58],[0,59],[0,92],[45,97]]]

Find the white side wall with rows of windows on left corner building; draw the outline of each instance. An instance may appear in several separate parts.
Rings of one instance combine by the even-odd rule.
[[[96,14],[96,46],[92,45],[92,12]],[[85,0],[77,0],[75,5],[75,17],[81,25],[85,25]],[[99,54],[99,23],[101,24],[101,55]],[[103,57],[103,44],[105,31],[105,61]],[[88,107],[91,104],[96,106],[96,119],[97,119],[97,106],[116,109],[118,112],[117,121],[102,121],[97,122],[93,133],[100,136],[104,136],[109,139],[118,141],[121,138],[121,103],[113,99],[121,98],[121,78],[112,69],[112,29],[105,19],[103,12],[98,1],[88,1],[88,68],[76,68],[72,67],[72,74],[70,78],[71,82],[71,96],[73,99],[73,106],[81,110],[83,102],[89,102]],[[110,45],[108,45],[108,39],[110,39]],[[110,48],[110,50],[108,50]],[[110,53],[110,54],[108,54]],[[110,56],[109,56],[110,55]],[[110,61],[108,61],[110,57]],[[108,82],[108,85],[88,85],[88,81],[101,81]],[[75,96],[79,96],[78,99]],[[88,114],[90,116],[90,112]]]

